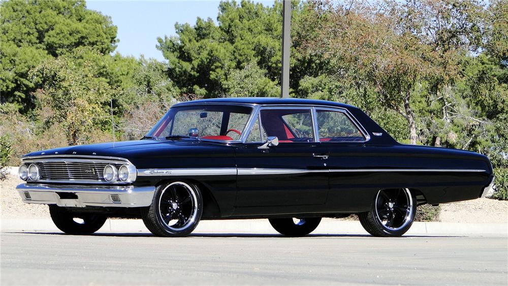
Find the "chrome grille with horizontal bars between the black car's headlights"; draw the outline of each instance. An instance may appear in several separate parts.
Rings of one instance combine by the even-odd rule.
[[[99,162],[41,162],[38,164],[42,180],[97,180],[104,181],[104,167]]]

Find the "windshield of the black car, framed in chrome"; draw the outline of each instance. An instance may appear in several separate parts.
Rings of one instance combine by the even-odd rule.
[[[146,137],[176,139],[239,140],[252,108],[228,105],[173,107],[146,134]]]

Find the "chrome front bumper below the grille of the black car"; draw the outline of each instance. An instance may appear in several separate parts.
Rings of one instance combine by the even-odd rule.
[[[60,207],[147,207],[155,187],[19,184],[24,203]]]

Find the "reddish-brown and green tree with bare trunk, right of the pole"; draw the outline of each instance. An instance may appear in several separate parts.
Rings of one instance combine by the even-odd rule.
[[[418,139],[415,104],[459,77],[460,59],[483,36],[475,1],[386,1],[373,5],[314,2],[302,49],[325,55],[325,72],[357,94],[375,91],[383,106],[407,121]],[[439,13],[437,13],[439,11]],[[320,24],[316,24],[320,23]],[[428,82],[428,90],[422,83]]]

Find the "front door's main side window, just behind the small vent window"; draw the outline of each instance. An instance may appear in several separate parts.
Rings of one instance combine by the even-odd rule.
[[[279,142],[312,142],[312,115],[309,109],[262,109],[261,125],[267,136]]]

